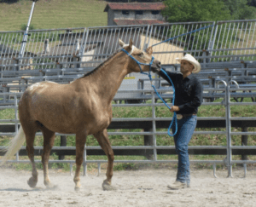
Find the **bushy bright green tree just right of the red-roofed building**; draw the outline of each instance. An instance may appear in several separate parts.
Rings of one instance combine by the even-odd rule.
[[[230,0],[232,1],[232,0]],[[169,22],[230,20],[223,0],[166,0],[162,14]]]

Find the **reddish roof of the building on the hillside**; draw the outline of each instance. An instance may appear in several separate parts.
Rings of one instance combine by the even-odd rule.
[[[112,10],[161,10],[165,8],[164,3],[108,3],[104,12]]]

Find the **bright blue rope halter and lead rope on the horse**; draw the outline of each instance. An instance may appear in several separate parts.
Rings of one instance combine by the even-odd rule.
[[[152,65],[152,63],[153,63],[154,56],[152,56],[152,60],[150,61],[150,63],[147,64],[147,63],[142,63],[142,62],[136,60],[136,59],[135,59],[131,54],[129,54],[125,49],[121,49],[121,50],[122,50],[123,52],[125,52],[125,54],[127,54],[129,57],[131,57],[132,60],[135,60],[135,61],[137,62],[137,65],[140,67],[140,71],[141,71],[142,74],[148,75],[148,78],[149,78],[149,80],[150,80],[150,83],[151,83],[152,88],[154,89],[154,92],[155,92],[156,95],[160,98],[160,100],[163,101],[163,103],[169,108],[169,110],[171,110],[171,107],[168,106],[168,104],[166,103],[166,101],[164,101],[164,100],[162,99],[162,97],[161,97],[160,94],[157,92],[157,90],[155,89],[155,86],[154,86],[154,84],[153,84],[153,80],[152,80],[152,76],[151,76],[151,73],[150,73],[150,72],[151,72],[151,65]],[[141,65],[143,65],[143,66],[149,66],[149,72],[148,72],[148,73],[147,73],[147,72],[143,72]],[[166,77],[167,77],[167,78],[169,79],[169,81],[172,83],[172,79],[168,76],[168,74],[167,74],[162,68],[161,68],[161,72],[164,72],[165,75],[166,75]],[[174,101],[175,101],[175,88],[174,88],[174,84],[173,84],[173,83],[172,83],[172,88],[173,88],[172,105],[174,106]],[[173,123],[175,123],[175,132],[174,132],[173,134],[171,134],[170,131],[171,131],[171,128],[172,128],[172,124],[173,124]],[[176,112],[173,113],[172,122],[171,122],[171,124],[170,124],[170,126],[169,126],[169,128],[168,128],[167,134],[170,135],[170,136],[174,136],[174,135],[177,134],[177,114],[176,114]]]

